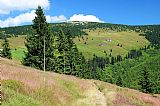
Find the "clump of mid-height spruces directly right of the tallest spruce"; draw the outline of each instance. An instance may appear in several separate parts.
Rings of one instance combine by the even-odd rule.
[[[69,29],[65,29],[65,34],[60,30],[56,48],[59,53],[56,61],[57,72],[83,77],[85,59],[73,42],[73,36]]]

